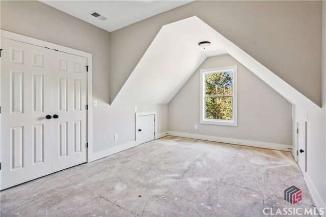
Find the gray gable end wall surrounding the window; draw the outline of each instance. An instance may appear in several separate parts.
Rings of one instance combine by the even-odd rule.
[[[237,65],[238,126],[200,124],[201,69]],[[292,145],[292,105],[230,55],[207,58],[169,103],[169,130]],[[194,129],[198,125],[198,130]]]

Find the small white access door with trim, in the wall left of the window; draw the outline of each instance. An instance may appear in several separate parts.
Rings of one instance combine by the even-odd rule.
[[[136,142],[138,145],[155,139],[156,112],[136,113]]]

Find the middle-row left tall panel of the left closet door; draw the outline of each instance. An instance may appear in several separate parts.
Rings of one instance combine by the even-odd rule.
[[[23,113],[23,73],[11,71],[11,112]]]

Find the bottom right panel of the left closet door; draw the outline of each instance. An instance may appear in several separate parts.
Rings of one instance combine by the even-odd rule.
[[[33,126],[33,159],[34,164],[44,162],[44,126]]]

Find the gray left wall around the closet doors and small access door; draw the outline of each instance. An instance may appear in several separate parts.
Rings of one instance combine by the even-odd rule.
[[[93,151],[134,140],[134,107],[110,106],[110,33],[38,1],[0,1],[1,29],[93,54]],[[157,111],[157,132],[168,130],[168,106],[139,106]],[[119,139],[114,141],[114,134]]]

